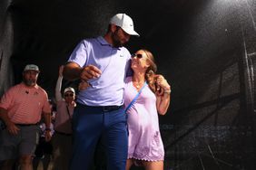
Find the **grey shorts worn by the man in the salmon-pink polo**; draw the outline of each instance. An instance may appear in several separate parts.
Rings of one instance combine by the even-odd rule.
[[[11,135],[6,129],[0,130],[0,161],[34,155],[40,128],[37,125],[17,127],[20,128],[17,135]]]

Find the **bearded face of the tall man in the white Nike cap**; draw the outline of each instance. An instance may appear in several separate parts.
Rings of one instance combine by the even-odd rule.
[[[116,26],[115,31],[112,33],[113,47],[123,47],[123,44],[128,42],[130,34],[125,33],[122,28]]]

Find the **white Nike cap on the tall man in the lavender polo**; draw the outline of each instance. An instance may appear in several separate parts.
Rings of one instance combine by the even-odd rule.
[[[139,33],[136,33],[133,28],[133,20],[127,14],[115,14],[111,20],[110,24],[115,24],[120,26],[125,33],[130,35],[140,36]]]

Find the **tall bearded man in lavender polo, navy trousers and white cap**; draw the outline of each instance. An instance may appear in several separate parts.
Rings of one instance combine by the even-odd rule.
[[[89,84],[86,90],[80,90],[74,109],[71,170],[90,168],[99,139],[107,154],[107,169],[125,169],[128,140],[123,88],[131,54],[123,44],[131,35],[139,36],[132,18],[115,14],[107,33],[80,42],[64,67],[65,79]]]

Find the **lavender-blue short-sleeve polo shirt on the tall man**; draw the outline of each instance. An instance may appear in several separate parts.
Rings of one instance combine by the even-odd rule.
[[[79,91],[77,102],[88,106],[122,105],[130,59],[131,53],[125,47],[114,48],[102,36],[80,42],[68,61],[81,67],[92,64],[102,71],[102,75],[89,80],[92,87]]]

